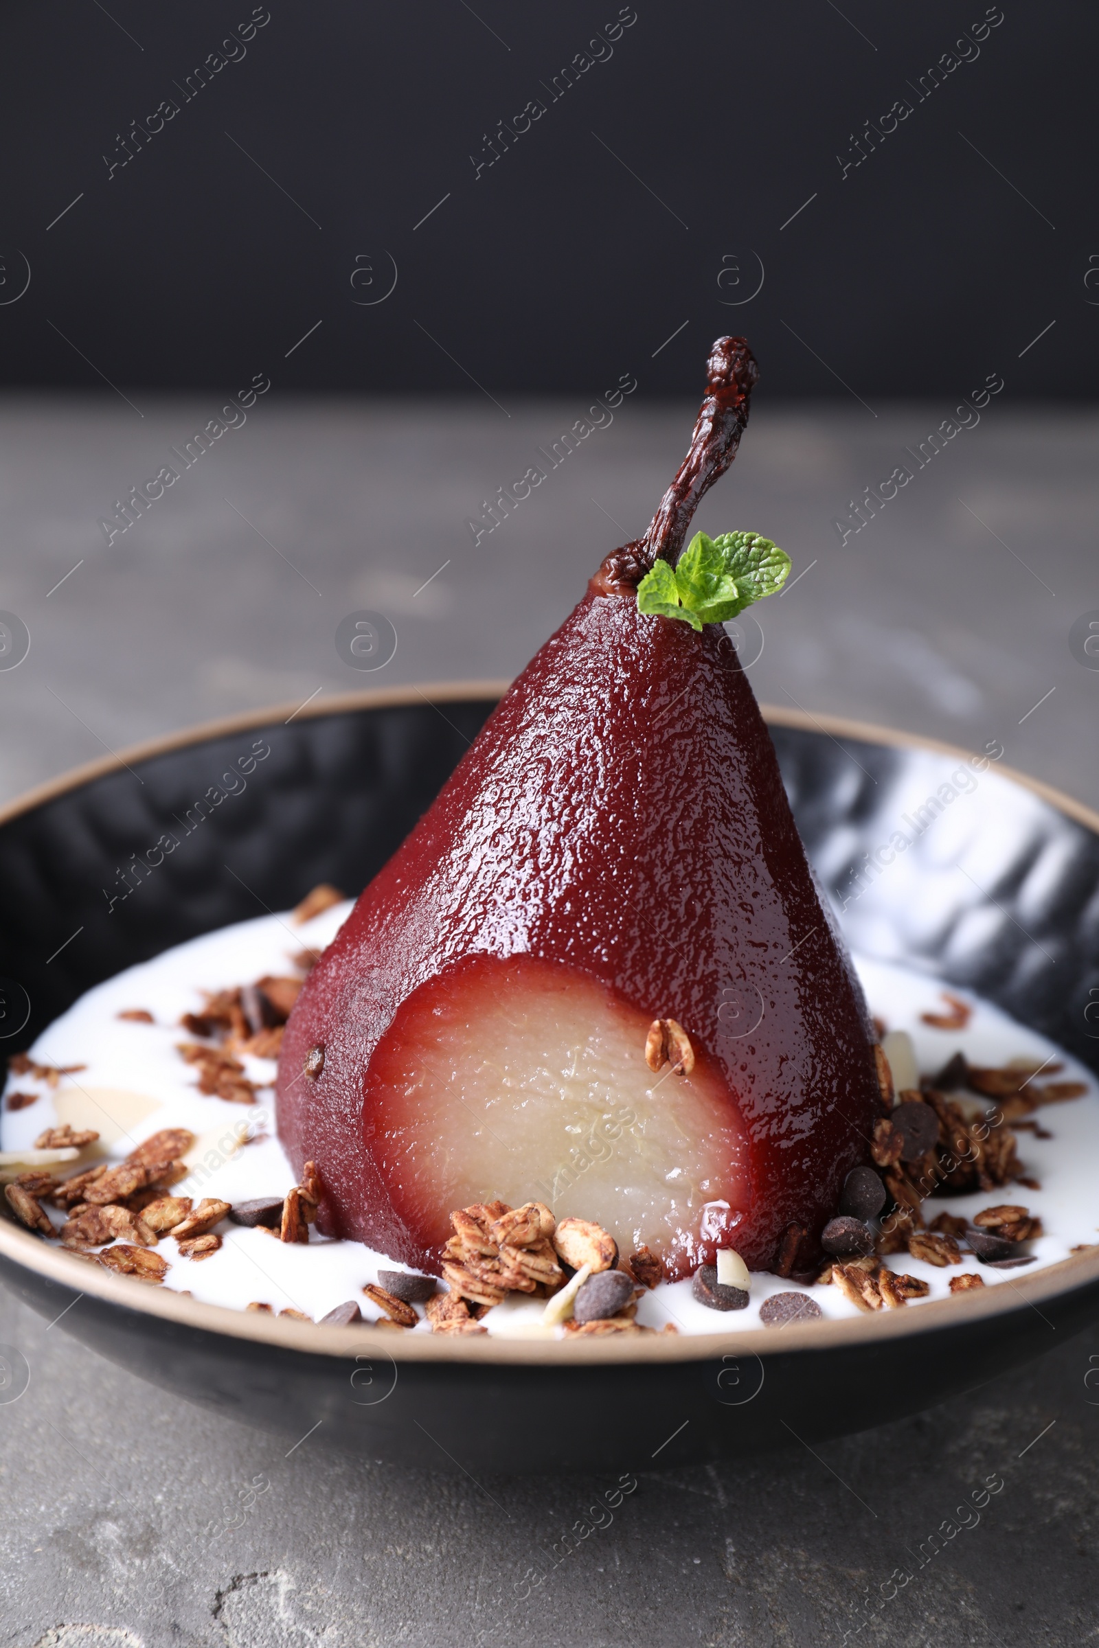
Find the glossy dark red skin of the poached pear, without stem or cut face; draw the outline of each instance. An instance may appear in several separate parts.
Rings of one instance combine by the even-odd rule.
[[[371,1157],[367,1065],[420,984],[524,953],[679,1020],[728,1084],[750,1203],[712,1210],[676,1272],[715,1246],[769,1269],[789,1224],[811,1254],[880,1114],[873,1032],[720,626],[588,593],[356,903],[293,1009],[277,1083],[290,1159],[320,1168],[321,1231],[438,1269]],[[676,1103],[674,1078],[661,1091]],[[570,1200],[559,1216],[583,1216],[583,1182]]]

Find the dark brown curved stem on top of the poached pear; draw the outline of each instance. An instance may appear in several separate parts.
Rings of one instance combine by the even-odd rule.
[[[758,377],[760,368],[745,338],[715,341],[687,456],[644,537],[616,549],[592,578],[595,593],[629,595],[657,560],[676,565],[700,499],[737,456]]]

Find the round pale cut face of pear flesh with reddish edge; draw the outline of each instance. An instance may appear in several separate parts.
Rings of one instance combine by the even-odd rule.
[[[590,974],[517,956],[460,962],[415,990],[371,1060],[364,1122],[399,1215],[448,1234],[451,1208],[549,1203],[620,1248],[682,1249],[707,1201],[748,1203],[740,1114],[713,1065],[652,1073],[656,1009]]]

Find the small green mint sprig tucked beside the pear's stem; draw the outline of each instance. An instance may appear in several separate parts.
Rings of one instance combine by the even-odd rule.
[[[692,630],[728,623],[745,606],[774,595],[789,574],[789,555],[758,532],[695,532],[671,567],[657,560],[638,585],[638,611],[682,618]]]

